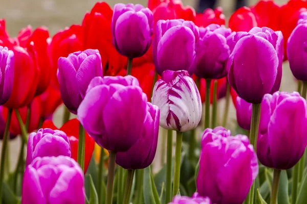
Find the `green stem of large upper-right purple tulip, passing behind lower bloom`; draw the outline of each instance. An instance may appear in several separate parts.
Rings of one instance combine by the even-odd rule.
[[[259,119],[260,119],[260,108],[261,104],[253,104],[252,110],[252,121],[251,121],[251,130],[250,130],[250,143],[253,145],[255,152],[257,151],[257,137],[258,137],[258,127],[259,127]],[[254,192],[255,192],[255,182],[253,183],[248,197],[250,200],[248,203],[253,204],[254,202]]]

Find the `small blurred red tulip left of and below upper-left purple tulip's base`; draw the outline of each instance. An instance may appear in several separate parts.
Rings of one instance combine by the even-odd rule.
[[[42,107],[41,117],[49,118],[63,103],[60,91],[49,85],[47,90],[39,95]]]

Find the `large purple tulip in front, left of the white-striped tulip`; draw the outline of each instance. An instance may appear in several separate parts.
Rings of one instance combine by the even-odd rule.
[[[147,96],[137,79],[94,78],[78,109],[78,119],[97,144],[109,151],[127,151],[140,138]]]

